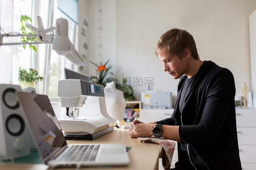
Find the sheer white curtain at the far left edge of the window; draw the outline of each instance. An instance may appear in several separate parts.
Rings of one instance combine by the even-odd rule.
[[[1,34],[20,33],[20,0],[0,0]],[[17,42],[4,38],[3,43]],[[19,45],[0,46],[0,84],[18,84]]]

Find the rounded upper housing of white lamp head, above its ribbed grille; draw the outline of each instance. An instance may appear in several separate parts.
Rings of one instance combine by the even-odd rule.
[[[52,40],[52,49],[58,55],[65,55],[72,50],[72,43],[68,38],[68,21],[64,18],[58,18],[55,26],[56,35]]]

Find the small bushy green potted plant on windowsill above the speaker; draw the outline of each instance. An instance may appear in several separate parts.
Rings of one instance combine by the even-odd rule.
[[[19,85],[22,89],[28,86],[33,87],[34,83],[36,84],[38,81],[43,79],[43,77],[38,75],[38,71],[36,69],[29,68],[29,70],[26,70],[19,67]]]

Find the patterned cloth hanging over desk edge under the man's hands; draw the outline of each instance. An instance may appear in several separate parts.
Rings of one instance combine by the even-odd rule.
[[[175,143],[172,140],[157,137],[138,138],[139,142],[144,143],[145,141],[151,141],[162,146],[161,156],[164,170],[169,170],[172,163],[174,154]]]

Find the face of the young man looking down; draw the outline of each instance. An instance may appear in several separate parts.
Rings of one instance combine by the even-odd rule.
[[[177,55],[169,54],[166,48],[159,51],[159,59],[164,63],[164,71],[167,71],[174,79],[179,79],[186,73],[188,68],[186,60],[180,60]]]

